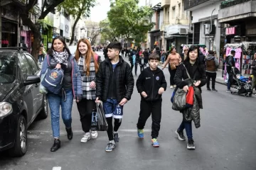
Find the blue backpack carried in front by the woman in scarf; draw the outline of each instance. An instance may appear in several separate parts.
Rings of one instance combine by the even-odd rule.
[[[48,60],[48,56],[47,56]],[[49,62],[48,62],[49,64]],[[63,88],[63,69],[49,69],[46,72],[46,75],[41,82],[41,84],[53,94],[60,94],[61,89]]]

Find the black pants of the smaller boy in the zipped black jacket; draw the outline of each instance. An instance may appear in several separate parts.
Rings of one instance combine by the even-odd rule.
[[[139,111],[139,120],[137,123],[138,129],[144,129],[146,120],[151,115],[152,118],[152,132],[151,137],[156,138],[159,135],[160,123],[161,123],[161,101],[144,101],[141,100],[140,111]]]

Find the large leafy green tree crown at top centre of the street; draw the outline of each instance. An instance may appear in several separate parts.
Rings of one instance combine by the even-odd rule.
[[[110,28],[129,41],[135,40],[137,45],[145,42],[146,33],[154,26],[149,21],[154,11],[149,6],[139,7],[138,4],[139,0],[112,1],[110,11],[107,12]]]

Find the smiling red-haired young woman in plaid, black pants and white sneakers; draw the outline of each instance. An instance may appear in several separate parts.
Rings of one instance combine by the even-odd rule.
[[[82,78],[82,100],[77,102],[82,131],[85,132],[82,143],[97,138],[97,131],[90,130],[92,125],[92,110],[96,109],[96,74],[99,70],[100,57],[92,52],[89,40],[82,38],[78,41],[75,52],[79,72]]]

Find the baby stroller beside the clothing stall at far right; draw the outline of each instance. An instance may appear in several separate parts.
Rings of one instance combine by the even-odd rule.
[[[242,76],[239,69],[233,67],[231,69],[233,74],[233,85],[235,85],[235,91],[231,91],[231,94],[243,94],[245,97],[252,96],[252,83],[248,77]]]

